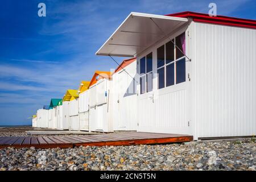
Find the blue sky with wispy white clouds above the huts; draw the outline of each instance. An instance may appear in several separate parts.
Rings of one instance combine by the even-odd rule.
[[[46,3],[43,18],[40,2]],[[31,115],[51,98],[77,89],[95,70],[116,68],[95,52],[131,11],[208,13],[210,2],[217,4],[217,14],[256,19],[254,0],[1,1],[0,125],[30,125]]]

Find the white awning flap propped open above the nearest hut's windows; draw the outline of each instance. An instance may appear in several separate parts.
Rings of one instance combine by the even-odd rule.
[[[174,16],[131,13],[96,55],[134,57],[187,21]]]

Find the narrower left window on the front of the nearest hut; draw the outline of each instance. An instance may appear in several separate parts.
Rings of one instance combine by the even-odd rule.
[[[142,57],[140,60],[140,84],[141,84],[141,94],[152,91],[152,52],[147,56]]]

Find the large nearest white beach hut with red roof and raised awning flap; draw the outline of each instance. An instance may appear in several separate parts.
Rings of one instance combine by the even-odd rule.
[[[96,54],[137,57],[138,131],[251,136],[255,35],[250,19],[131,13]]]

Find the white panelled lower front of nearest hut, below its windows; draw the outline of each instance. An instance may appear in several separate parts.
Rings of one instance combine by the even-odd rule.
[[[138,107],[147,112],[138,114],[139,131],[188,134],[186,106],[186,89],[159,94],[154,103],[143,98]]]

